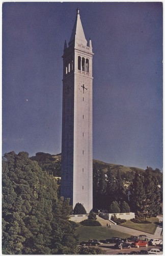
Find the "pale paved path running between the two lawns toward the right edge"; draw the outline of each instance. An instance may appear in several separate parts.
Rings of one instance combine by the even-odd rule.
[[[157,216],[157,218],[159,219],[159,221],[162,221],[162,217],[161,216]],[[97,216],[97,221],[99,221],[101,223],[102,226],[106,227],[106,223],[109,223],[108,220],[104,220],[100,217]],[[111,223],[111,229],[113,230],[117,230],[123,233],[127,233],[130,234],[131,236],[139,236],[139,234],[146,234],[147,237],[149,238],[161,238],[161,231],[162,231],[162,227],[158,227],[155,230],[154,234],[150,234],[150,233],[146,233],[146,232],[142,232],[139,230],[135,230],[132,228],[128,228],[128,227],[123,227],[123,226],[119,226],[119,225],[114,225],[113,223]]]

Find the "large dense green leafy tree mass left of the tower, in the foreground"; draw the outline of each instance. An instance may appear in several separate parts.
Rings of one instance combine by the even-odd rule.
[[[3,158],[3,253],[76,254],[68,199],[28,153]]]

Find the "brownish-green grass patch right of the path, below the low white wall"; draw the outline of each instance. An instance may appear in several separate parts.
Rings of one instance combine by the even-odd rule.
[[[140,230],[150,234],[154,234],[156,229],[156,223],[159,222],[159,220],[158,218],[148,218],[147,220],[151,221],[152,224],[139,224],[139,223],[134,223],[128,220],[125,223],[121,224],[121,226],[133,228],[133,229]]]

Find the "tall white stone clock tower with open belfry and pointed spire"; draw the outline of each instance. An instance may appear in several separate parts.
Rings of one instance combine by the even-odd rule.
[[[79,9],[63,55],[63,118],[61,196],[73,209],[93,208],[92,175],[92,42],[81,25]]]

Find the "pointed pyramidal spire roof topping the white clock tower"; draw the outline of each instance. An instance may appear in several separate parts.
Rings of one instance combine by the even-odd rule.
[[[76,15],[74,27],[73,27],[73,30],[72,30],[72,34],[71,34],[71,37],[70,37],[69,45],[73,41],[77,42],[79,44],[87,45],[87,40],[86,40],[86,37],[85,37],[85,34],[84,34],[84,30],[82,28],[78,8],[77,8],[77,15]]]

